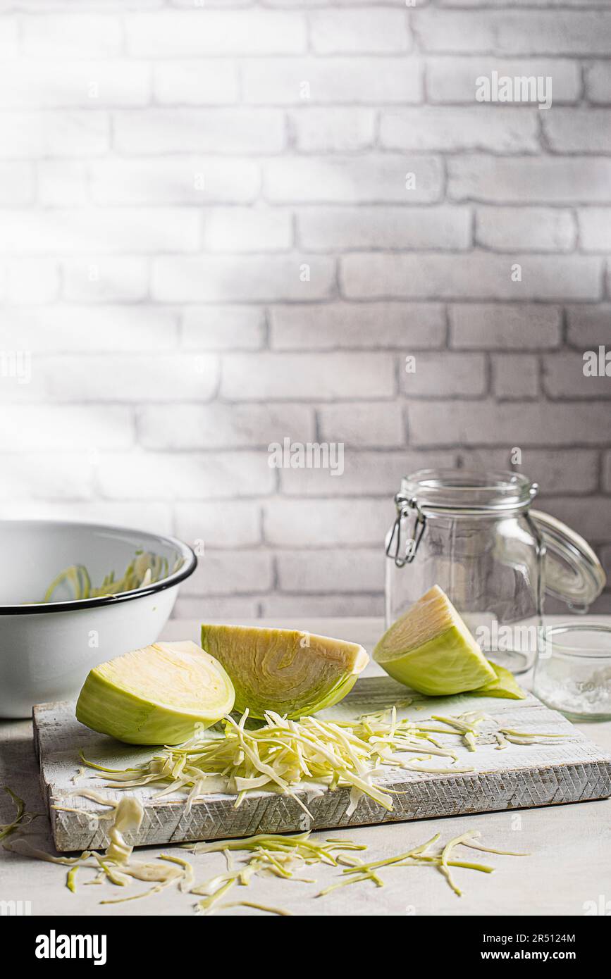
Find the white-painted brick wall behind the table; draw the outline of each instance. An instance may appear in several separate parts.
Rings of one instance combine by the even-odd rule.
[[[611,573],[609,0],[2,0],[0,133],[4,516],[203,540],[179,614],[372,614],[401,474],[517,446]]]

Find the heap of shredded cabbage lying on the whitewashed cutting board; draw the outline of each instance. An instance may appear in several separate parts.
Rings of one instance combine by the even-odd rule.
[[[349,787],[352,816],[359,800],[367,796],[386,810],[393,810],[394,790],[380,787],[376,777],[384,770],[452,774],[472,771],[458,764],[455,750],[434,735],[453,734],[475,751],[481,736],[480,724],[492,723],[489,730],[496,748],[510,742],[531,744],[558,735],[531,734],[501,728],[485,714],[469,712],[459,717],[434,715],[427,721],[397,719],[397,709],[365,714],[357,721],[323,721],[305,717],[289,721],[268,711],[265,721],[255,729],[246,726],[248,711],[239,722],[227,717],[222,733],[211,730],[198,734],[184,745],[166,747],[148,762],[134,769],[109,769],[82,759],[100,772],[109,788],[126,789],[140,785],[163,786],[154,796],[159,800],[176,791],[187,793],[186,811],[214,792],[236,795],[238,808],[253,792],[271,791],[291,796],[311,813],[307,801],[325,791]],[[489,727],[491,726],[489,723]],[[436,761],[439,759],[440,761]],[[113,777],[109,779],[109,775]]]

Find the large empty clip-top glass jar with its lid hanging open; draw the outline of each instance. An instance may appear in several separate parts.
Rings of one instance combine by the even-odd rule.
[[[605,583],[588,543],[531,504],[521,473],[423,469],[401,480],[387,536],[386,620],[434,584],[501,666],[530,669],[543,642],[545,594],[584,612]]]

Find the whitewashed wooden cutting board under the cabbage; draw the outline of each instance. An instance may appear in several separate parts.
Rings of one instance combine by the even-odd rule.
[[[336,707],[321,715],[329,718],[355,718],[404,701],[406,690],[389,677],[363,678],[352,693]],[[138,845],[181,843],[247,836],[257,832],[289,832],[364,825],[391,820],[424,819],[487,813],[496,810],[551,806],[584,802],[611,795],[611,758],[586,738],[561,715],[544,707],[537,698],[501,700],[495,698],[425,698],[400,709],[399,717],[424,721],[432,714],[458,715],[483,711],[498,724],[526,731],[563,734],[548,743],[510,745],[496,749],[491,733],[478,739],[478,750],[470,752],[455,735],[436,735],[447,741],[459,755],[458,765],[473,771],[433,774],[389,769],[377,782],[400,790],[394,797],[392,813],[368,798],[362,798],[356,811],[347,817],[348,789],[326,792],[308,802],[310,820],[295,800],[275,793],[260,792],[246,798],[239,809],[235,796],[213,794],[206,802],[185,813],[184,796],[174,793],[154,802],[158,787],[141,786],[123,790],[137,795],[145,809],[140,831],[131,842]],[[75,796],[74,790],[94,789],[111,800],[121,791],[104,788],[104,781],[87,777],[73,781],[80,767],[79,751],[98,764],[128,768],[150,758],[154,749],[139,749],[96,734],[74,719],[73,705],[41,704],[34,707],[34,744],[40,761],[42,794],[46,801],[53,838],[60,851],[98,850],[107,845],[109,820],[100,819],[108,809]],[[494,723],[489,723],[492,730]],[[487,723],[480,730],[485,733]],[[406,758],[409,756],[406,756]],[[445,764],[445,760],[439,759]],[[303,793],[305,800],[305,792]],[[73,806],[86,811],[68,813],[55,806]]]

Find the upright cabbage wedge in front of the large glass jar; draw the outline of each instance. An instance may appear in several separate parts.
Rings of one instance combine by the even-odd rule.
[[[389,676],[432,697],[474,690],[497,678],[438,584],[384,633],[373,658]]]

